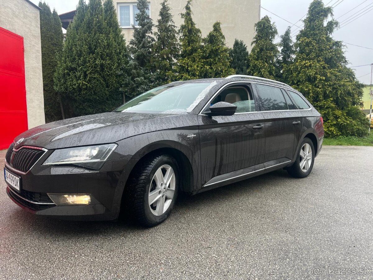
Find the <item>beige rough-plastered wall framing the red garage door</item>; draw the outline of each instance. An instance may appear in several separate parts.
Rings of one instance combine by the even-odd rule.
[[[23,37],[28,128],[45,124],[39,10],[25,0],[0,2],[0,26]]]

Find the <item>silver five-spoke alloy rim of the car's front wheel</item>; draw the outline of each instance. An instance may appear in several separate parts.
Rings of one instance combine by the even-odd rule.
[[[154,174],[149,188],[148,202],[153,215],[160,216],[167,211],[172,202],[175,187],[175,172],[170,165],[162,165]]]

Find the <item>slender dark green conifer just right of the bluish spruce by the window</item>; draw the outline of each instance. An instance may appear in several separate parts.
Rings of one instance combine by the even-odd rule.
[[[154,66],[158,71],[157,82],[162,84],[172,79],[175,62],[180,52],[176,26],[167,0],[161,3],[156,28],[157,32],[154,33],[156,38]]]

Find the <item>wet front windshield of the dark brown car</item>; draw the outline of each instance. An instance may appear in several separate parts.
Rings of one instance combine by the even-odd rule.
[[[188,113],[201,102],[214,85],[216,82],[162,85],[135,97],[114,112]]]

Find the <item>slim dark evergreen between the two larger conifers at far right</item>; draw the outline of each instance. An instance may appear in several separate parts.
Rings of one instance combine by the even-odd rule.
[[[278,66],[280,69],[285,68],[285,66],[291,65],[294,61],[294,45],[291,39],[291,28],[288,27],[283,35],[281,35],[281,51],[280,57],[278,60]],[[279,73],[279,79],[283,82],[287,83],[288,78],[283,71]]]

